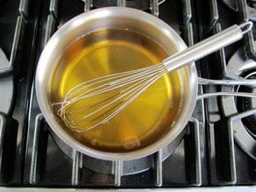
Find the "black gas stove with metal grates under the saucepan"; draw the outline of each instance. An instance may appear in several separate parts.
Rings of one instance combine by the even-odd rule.
[[[0,1],[0,189],[248,189],[256,184],[256,100],[197,100],[181,135],[139,160],[98,160],[66,146],[51,131],[35,95],[39,55],[69,19],[106,6],[146,11],[172,26],[188,46],[233,24],[253,22],[244,39],[196,61],[198,76],[255,79],[256,3],[252,0]],[[198,85],[211,92],[254,87]]]

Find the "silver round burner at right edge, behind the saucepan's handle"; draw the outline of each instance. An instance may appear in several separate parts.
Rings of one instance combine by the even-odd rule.
[[[256,45],[256,42],[254,42],[254,45]],[[247,79],[256,78],[256,61],[247,58],[245,55],[246,54],[243,48],[238,49],[238,51],[234,53],[226,67],[226,73],[228,75],[242,76]],[[255,88],[248,88],[245,86],[224,87],[222,90],[227,92],[256,92]],[[255,98],[224,96],[222,97],[221,101],[224,115],[226,117],[230,117],[236,142],[245,153],[256,160],[256,115],[254,111],[256,109]]]

